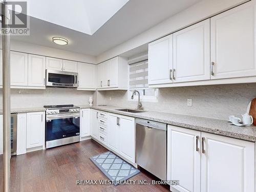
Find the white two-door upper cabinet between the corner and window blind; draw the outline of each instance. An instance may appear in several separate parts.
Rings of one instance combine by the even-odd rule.
[[[99,90],[127,90],[127,59],[117,56],[97,65],[97,88]]]

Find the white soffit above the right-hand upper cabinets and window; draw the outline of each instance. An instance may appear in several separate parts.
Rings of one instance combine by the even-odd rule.
[[[164,20],[162,23],[133,37],[130,40],[97,56],[97,63],[147,44],[167,34],[173,33],[200,20],[237,6],[248,0],[203,0],[194,6]]]

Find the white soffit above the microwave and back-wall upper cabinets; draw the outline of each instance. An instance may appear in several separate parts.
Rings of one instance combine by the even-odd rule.
[[[1,45],[2,48],[2,45]],[[70,51],[64,51],[60,49],[49,48],[45,46],[39,46],[35,44],[29,44],[22,41],[11,40],[10,48],[12,51],[20,51],[25,53],[32,53],[37,55],[44,55],[49,57],[57,57],[69,60],[75,60],[80,62],[96,63],[96,57],[90,55],[83,55]]]

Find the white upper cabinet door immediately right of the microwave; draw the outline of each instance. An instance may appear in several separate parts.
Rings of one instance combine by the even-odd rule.
[[[78,88],[96,89],[95,86],[95,65],[78,63]]]

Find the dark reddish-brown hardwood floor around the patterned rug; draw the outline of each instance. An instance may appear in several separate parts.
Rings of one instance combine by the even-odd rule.
[[[11,191],[169,191],[162,185],[76,185],[76,180],[107,180],[89,157],[108,151],[96,141],[27,153],[11,158]],[[0,156],[3,172],[3,156]],[[131,180],[155,180],[143,171]],[[0,173],[0,191],[3,173]]]

